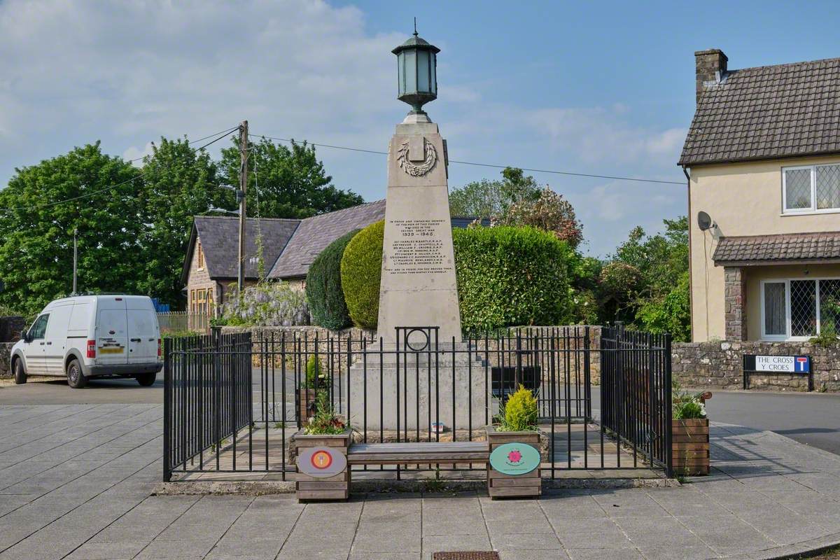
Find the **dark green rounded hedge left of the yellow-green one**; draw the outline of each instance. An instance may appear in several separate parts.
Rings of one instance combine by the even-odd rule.
[[[312,261],[307,272],[307,300],[312,322],[320,327],[339,329],[348,327],[350,316],[341,290],[341,258],[350,239],[360,230],[329,243]]]

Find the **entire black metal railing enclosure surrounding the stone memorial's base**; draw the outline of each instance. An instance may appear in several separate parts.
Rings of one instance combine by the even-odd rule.
[[[444,340],[438,327],[397,327],[390,341],[215,330],[167,341],[165,479],[242,471],[285,479],[295,470],[291,436],[323,396],[359,442],[483,439],[500,402],[520,385],[537,397],[539,428],[548,438],[543,468],[552,477],[563,469],[661,466],[646,439],[659,432],[646,426],[658,430],[665,416],[670,419],[669,408],[664,399],[651,400],[637,411],[638,384],[621,376],[635,372],[628,364],[644,354],[659,364],[650,385],[658,388],[663,350],[633,345],[635,335],[623,330],[603,329],[604,341],[601,330],[529,327]],[[593,418],[591,390],[599,375],[601,426]],[[628,424],[628,414],[637,423]],[[472,465],[459,465],[464,468]]]

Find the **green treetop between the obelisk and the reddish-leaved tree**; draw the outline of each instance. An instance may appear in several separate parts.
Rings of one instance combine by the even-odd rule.
[[[537,201],[540,187],[531,175],[521,169],[507,167],[501,180],[473,181],[449,193],[449,212],[453,216],[492,217],[501,219],[512,205],[521,201]]]

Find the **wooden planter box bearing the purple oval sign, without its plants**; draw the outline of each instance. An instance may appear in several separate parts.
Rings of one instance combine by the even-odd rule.
[[[351,431],[336,435],[307,436],[303,430],[294,436],[295,456],[297,461],[297,500],[347,500],[350,495],[350,468],[347,465],[347,449],[350,446]],[[332,460],[336,463],[343,462],[344,470],[332,476],[311,476],[303,472],[301,461],[307,457],[312,447],[328,448]],[[312,470],[311,468],[309,470]]]

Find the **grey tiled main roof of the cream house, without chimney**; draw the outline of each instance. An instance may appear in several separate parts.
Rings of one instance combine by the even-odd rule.
[[[680,165],[840,153],[840,58],[727,71],[706,83]]]

